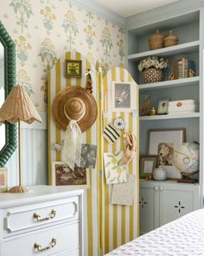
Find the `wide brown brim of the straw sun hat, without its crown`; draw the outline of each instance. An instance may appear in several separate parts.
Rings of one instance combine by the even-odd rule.
[[[86,113],[78,125],[80,126],[81,132],[85,132],[87,129],[92,127],[92,124],[97,119],[98,108],[97,103],[86,89],[80,86],[71,86],[66,89],[62,89],[55,97],[52,104],[52,114],[57,127],[66,130],[69,120],[64,114],[64,105],[67,99],[70,97],[79,97],[86,106]]]

